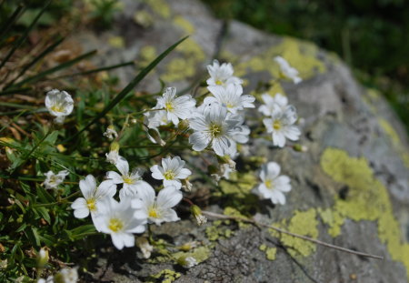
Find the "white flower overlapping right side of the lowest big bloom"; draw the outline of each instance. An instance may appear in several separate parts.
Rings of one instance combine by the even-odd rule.
[[[175,210],[172,209],[182,199],[182,193],[176,187],[169,186],[161,189],[157,197],[155,197],[154,188],[151,187],[140,191],[138,197],[132,200],[136,218],[147,218],[149,222],[156,225],[179,220]]]

